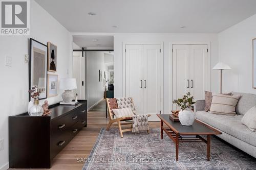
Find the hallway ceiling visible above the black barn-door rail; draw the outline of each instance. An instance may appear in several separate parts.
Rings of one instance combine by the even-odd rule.
[[[93,49],[108,49],[114,48],[114,37],[113,36],[73,36],[73,42],[79,47],[87,47]]]

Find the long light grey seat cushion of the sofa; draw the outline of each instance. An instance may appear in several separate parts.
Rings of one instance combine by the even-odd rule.
[[[256,132],[250,131],[241,123],[242,117],[242,115],[227,116],[205,111],[196,112],[196,118],[202,122],[256,147]]]

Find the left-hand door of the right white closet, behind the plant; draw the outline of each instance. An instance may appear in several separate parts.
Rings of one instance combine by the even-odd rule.
[[[173,45],[173,99],[190,91],[190,45]],[[173,110],[177,105],[173,104]]]

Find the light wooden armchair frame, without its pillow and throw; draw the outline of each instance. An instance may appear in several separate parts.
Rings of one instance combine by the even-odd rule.
[[[131,99],[133,102],[133,99]],[[118,126],[119,132],[120,132],[120,136],[123,137],[123,132],[129,132],[132,131],[132,124],[133,122],[125,122],[127,120],[133,120],[133,117],[119,117],[119,118],[114,118],[114,113],[112,111],[112,109],[118,109],[118,105],[117,105],[117,101],[115,98],[112,99],[106,99],[106,105],[108,106],[108,111],[109,111],[109,117],[110,117],[110,121],[108,126],[106,126],[106,130],[109,130],[110,127],[112,126],[112,124],[114,124],[113,126]],[[147,115],[148,117],[151,116],[150,114]],[[122,129],[123,125],[131,125],[131,128],[126,128],[126,129]],[[147,133],[150,133],[150,131],[148,130]]]

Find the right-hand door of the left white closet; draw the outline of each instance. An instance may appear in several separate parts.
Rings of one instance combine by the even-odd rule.
[[[162,109],[163,57],[160,44],[143,45],[143,114],[156,119]]]

